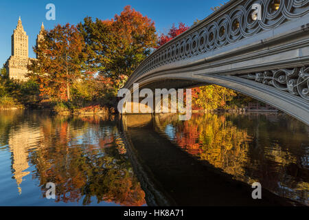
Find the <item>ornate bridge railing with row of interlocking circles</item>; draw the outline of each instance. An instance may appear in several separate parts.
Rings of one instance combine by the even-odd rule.
[[[256,13],[254,4],[260,5],[260,14]],[[126,85],[163,65],[211,54],[221,47],[303,17],[308,14],[308,5],[309,0],[231,0],[155,50],[135,69]]]

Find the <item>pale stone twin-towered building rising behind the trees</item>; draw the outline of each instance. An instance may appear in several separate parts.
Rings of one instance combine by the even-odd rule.
[[[37,36],[36,44],[38,40],[43,38],[44,25],[42,23],[41,30]],[[23,30],[23,25],[21,23],[21,17],[19,17],[19,22],[17,27],[12,34],[12,55],[8,58],[8,61],[5,62],[5,69],[8,76],[12,79],[25,81],[27,78],[27,65],[30,63],[32,58],[29,58],[28,52],[28,36]]]

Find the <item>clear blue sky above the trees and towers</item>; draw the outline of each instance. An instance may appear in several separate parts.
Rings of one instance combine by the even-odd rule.
[[[0,67],[11,55],[11,35],[16,28],[19,16],[23,28],[29,36],[29,54],[35,57],[32,46],[36,41],[41,23],[45,28],[54,28],[58,23],[77,24],[84,17],[112,19],[120,14],[125,5],[147,15],[155,21],[157,32],[167,32],[172,23],[183,22],[192,25],[196,19],[204,19],[211,14],[211,7],[225,1],[221,0],[1,0],[0,1]],[[47,3],[56,5],[56,21],[47,21]]]

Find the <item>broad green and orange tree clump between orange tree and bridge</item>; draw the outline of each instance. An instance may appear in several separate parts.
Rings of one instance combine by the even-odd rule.
[[[155,23],[129,5],[111,20],[87,17],[78,29],[91,49],[91,67],[113,79],[130,76],[157,41]]]

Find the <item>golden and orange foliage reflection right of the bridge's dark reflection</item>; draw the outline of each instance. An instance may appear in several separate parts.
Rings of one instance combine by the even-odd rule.
[[[195,114],[156,118],[159,132],[234,179],[308,205],[308,126],[278,114]]]

